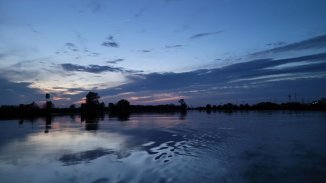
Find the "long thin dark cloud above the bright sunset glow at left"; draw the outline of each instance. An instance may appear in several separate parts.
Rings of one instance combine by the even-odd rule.
[[[79,72],[89,72],[89,73],[104,73],[104,72],[120,72],[120,73],[139,73],[143,71],[128,70],[123,67],[112,67],[108,65],[77,65],[72,63],[63,63],[58,65],[59,68],[66,71],[79,71]]]

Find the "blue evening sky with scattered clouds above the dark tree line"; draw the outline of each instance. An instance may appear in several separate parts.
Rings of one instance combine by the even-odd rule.
[[[305,103],[326,96],[326,1],[0,1],[0,105]]]

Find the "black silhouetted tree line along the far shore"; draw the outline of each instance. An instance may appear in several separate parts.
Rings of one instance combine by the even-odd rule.
[[[99,102],[101,97],[96,92],[88,92],[85,98],[85,112],[129,112],[135,110],[326,110],[326,99],[321,98],[318,101],[313,101],[309,104],[302,104],[299,102],[276,104],[272,102],[260,102],[252,106],[248,104],[240,104],[239,106],[227,103],[224,105],[211,105],[207,104],[204,107],[190,107],[186,104],[185,99],[178,100],[178,105],[165,104],[165,105],[130,105],[126,99],[121,99],[117,103],[109,103],[108,106],[104,102]],[[76,107],[72,104],[69,108],[54,108],[52,104],[52,113],[79,113],[81,107]],[[0,118],[8,116],[17,117],[24,116],[40,116],[45,113],[46,103],[38,106],[36,103],[16,105],[1,105]]]

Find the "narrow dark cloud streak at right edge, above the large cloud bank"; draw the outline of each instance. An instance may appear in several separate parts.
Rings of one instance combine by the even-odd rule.
[[[286,46],[277,47],[273,49],[267,49],[263,51],[258,51],[250,53],[248,56],[257,57],[266,54],[281,53],[286,51],[301,51],[306,49],[321,49],[326,48],[326,35],[321,35],[313,38],[309,38],[300,42],[288,44]]]

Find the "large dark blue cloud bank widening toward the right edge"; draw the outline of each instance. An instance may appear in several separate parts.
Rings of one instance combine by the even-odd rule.
[[[315,85],[317,90],[320,90],[304,89],[306,95],[312,95],[312,93],[326,92],[326,88],[320,85],[322,81],[326,81],[326,53],[279,60],[258,59],[222,68],[199,69],[183,73],[129,75],[127,78],[130,80],[129,83],[99,92],[103,95],[116,95],[117,92],[133,91],[130,96],[139,97],[162,92],[185,96],[186,91],[198,91],[187,92],[186,96],[201,103],[206,97],[207,102],[215,100],[216,97],[220,97],[220,100],[226,97],[239,98],[239,93],[243,98],[258,98],[267,94],[275,96],[275,93],[281,91],[287,94],[296,88],[303,88],[300,86],[311,81],[312,83],[307,85]],[[293,83],[289,84],[290,81]],[[287,85],[283,86],[284,83]],[[273,88],[276,85],[278,86]]]

